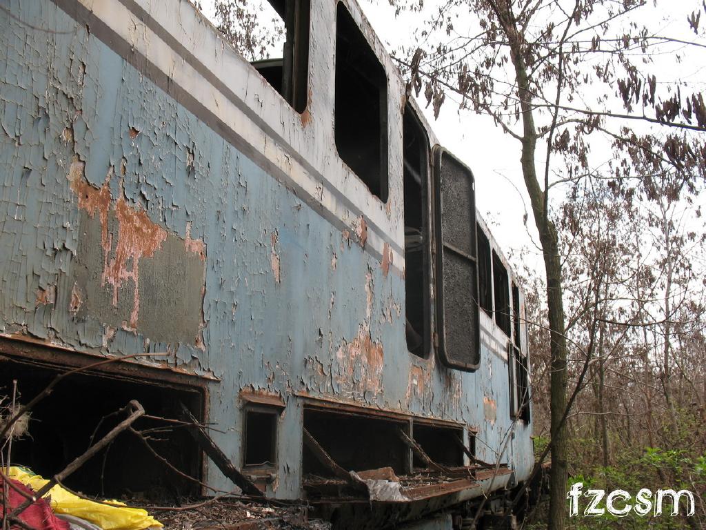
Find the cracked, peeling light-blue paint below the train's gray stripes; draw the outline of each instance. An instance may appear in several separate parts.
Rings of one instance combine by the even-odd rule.
[[[225,431],[216,441],[237,463],[239,391],[281,394],[287,408],[270,492],[277,497],[301,496],[296,394],[470,425],[478,429],[478,457],[500,457],[511,425],[508,366],[489,349],[493,341],[472,373],[410,355],[400,274],[383,274],[373,254],[51,1],[0,1],[23,20],[0,11],[2,333],[106,355],[168,351],[172,365],[217,377],[208,419]],[[111,204],[145,213],[187,249],[203,245],[203,285],[188,308],[202,322],[201,338],[169,341],[146,335],[145,326],[72,309],[90,295],[75,285],[81,244],[95,223],[69,182],[72,160],[85,163],[91,189],[108,183]],[[147,266],[154,258],[139,259]],[[193,291],[162,279],[160,289]],[[130,282],[121,285],[121,296],[131,296]],[[160,300],[140,298],[148,327],[172,318]],[[530,428],[514,431],[501,459],[520,480],[532,466]],[[231,488],[213,466],[208,482]]]

